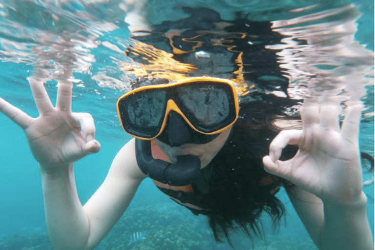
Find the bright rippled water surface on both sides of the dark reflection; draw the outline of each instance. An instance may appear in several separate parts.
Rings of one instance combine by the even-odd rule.
[[[54,80],[68,78],[76,85],[75,99],[83,97],[84,102],[78,101],[83,106],[85,102],[100,105],[100,113],[95,108],[90,111],[96,113],[96,118],[107,121],[103,125],[116,124],[117,128],[113,106],[137,81],[129,72],[121,70],[124,63],[134,63],[125,54],[132,44],[125,23],[126,15],[132,10],[125,3],[121,0],[0,3],[0,60],[32,67],[31,72],[20,70],[9,78],[36,77],[43,82],[52,81],[52,85],[56,83]],[[360,14],[349,3],[288,1],[280,6],[272,1],[223,0],[214,4],[207,0],[200,1],[198,6],[197,2],[189,2],[191,6],[210,6],[218,12],[226,9],[221,16],[223,20],[235,19],[235,11],[242,10],[249,11],[248,19],[271,21],[273,32],[284,38],[264,49],[275,50],[283,77],[289,79],[288,96],[343,104],[365,97],[365,86],[373,85],[374,74],[373,53],[354,39]],[[148,1],[147,4],[149,21],[154,24],[188,16],[181,11],[182,1],[175,2],[177,7],[169,8],[166,2]],[[155,15],[160,8],[165,13]],[[4,72],[3,77],[6,76]],[[246,79],[244,83],[253,84]],[[277,90],[262,91],[283,95]],[[259,88],[250,91],[259,91]],[[10,91],[3,97],[13,95]],[[373,98],[369,101],[365,112],[373,116]]]

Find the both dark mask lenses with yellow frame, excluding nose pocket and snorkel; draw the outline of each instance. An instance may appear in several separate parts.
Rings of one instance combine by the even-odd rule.
[[[138,139],[152,139],[162,132],[167,111],[179,113],[197,133],[213,135],[228,128],[238,115],[233,86],[216,79],[194,80],[142,87],[125,94],[117,102],[125,131]]]

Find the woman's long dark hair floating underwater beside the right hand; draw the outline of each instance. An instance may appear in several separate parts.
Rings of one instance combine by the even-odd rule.
[[[262,158],[268,154],[270,142],[278,133],[268,120],[275,114],[281,115],[281,107],[286,102],[290,100],[280,99],[272,105],[264,105],[272,103],[270,100],[262,104],[240,104],[240,118],[233,125],[228,141],[207,166],[210,171],[210,192],[205,198],[208,224],[218,242],[222,242],[220,235],[224,233],[231,244],[229,231],[232,229],[241,229],[250,238],[251,232],[262,236],[260,215],[268,213],[277,226],[284,213],[274,190],[286,182],[268,174]],[[291,158],[296,150],[293,146],[286,148],[283,159]],[[263,182],[266,177],[268,182]]]

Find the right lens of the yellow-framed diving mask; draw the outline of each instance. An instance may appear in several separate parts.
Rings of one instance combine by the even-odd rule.
[[[228,90],[219,84],[191,84],[178,88],[178,97],[202,125],[215,126],[229,116]]]

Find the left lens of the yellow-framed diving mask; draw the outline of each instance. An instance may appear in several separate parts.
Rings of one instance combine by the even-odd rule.
[[[160,129],[166,111],[167,94],[163,90],[134,94],[120,103],[121,119],[129,132],[153,137]],[[126,130],[126,128],[125,128]]]

